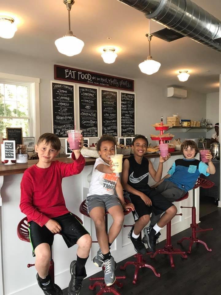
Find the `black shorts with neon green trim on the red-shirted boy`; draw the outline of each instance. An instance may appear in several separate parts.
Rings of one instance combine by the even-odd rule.
[[[58,222],[61,226],[60,234],[68,248],[76,244],[77,240],[85,234],[89,234],[83,225],[76,219],[72,213],[67,213],[58,217],[53,217],[53,220]],[[29,237],[32,245],[33,256],[35,248],[42,244],[49,244],[50,248],[54,241],[54,234],[48,228],[38,225],[34,221],[29,222]]]

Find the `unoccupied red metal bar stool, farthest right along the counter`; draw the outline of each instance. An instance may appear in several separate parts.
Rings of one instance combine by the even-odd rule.
[[[192,236],[191,237],[184,237],[181,240],[177,241],[178,244],[181,244],[184,240],[190,241],[189,244],[189,250],[187,251],[188,254],[191,253],[192,245],[194,243],[200,243],[203,244],[207,251],[211,252],[212,250],[208,248],[207,244],[204,241],[199,240],[196,237],[196,233],[199,233],[200,231],[207,231],[207,230],[213,230],[213,228],[207,228],[202,229],[197,223],[196,223],[196,207],[195,207],[195,189],[197,187],[203,187],[203,188],[210,188],[214,186],[214,182],[204,179],[204,178],[198,178],[195,186],[193,187],[193,205],[192,207],[184,207],[181,206],[180,208],[192,208],[192,223],[190,224],[190,227],[192,228]],[[197,230],[198,229],[198,230]]]

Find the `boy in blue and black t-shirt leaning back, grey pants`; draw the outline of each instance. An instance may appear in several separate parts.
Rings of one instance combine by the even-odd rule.
[[[160,182],[152,186],[156,187],[157,193],[163,195],[172,203],[182,198],[188,191],[192,190],[200,174],[204,174],[205,176],[215,174],[215,166],[211,161],[212,155],[210,151],[206,155],[208,165],[194,158],[199,152],[194,141],[185,140],[181,144],[181,151],[184,158],[175,160],[170,167],[168,174],[161,179]],[[160,216],[160,214],[155,215],[154,212],[152,212],[150,225],[144,229],[145,236],[142,240],[143,243],[148,243],[149,233],[160,219]]]

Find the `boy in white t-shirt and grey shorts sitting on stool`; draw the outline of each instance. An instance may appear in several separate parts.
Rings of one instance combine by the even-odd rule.
[[[115,154],[115,138],[103,135],[97,142],[100,158],[96,159],[91,176],[91,185],[87,194],[87,210],[95,223],[99,250],[93,259],[96,266],[105,266],[104,281],[110,286],[115,281],[116,262],[111,256],[110,247],[121,231],[124,214],[123,210],[131,208],[133,204],[126,204],[119,173],[114,173],[110,155]],[[115,193],[116,191],[116,193]],[[105,212],[108,211],[113,223],[108,235],[105,228]]]

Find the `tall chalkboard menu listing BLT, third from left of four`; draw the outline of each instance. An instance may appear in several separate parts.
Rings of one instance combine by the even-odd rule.
[[[102,135],[118,136],[118,92],[101,90]]]

